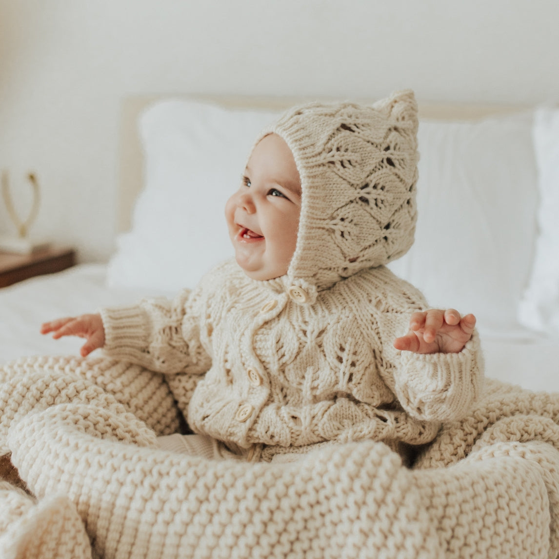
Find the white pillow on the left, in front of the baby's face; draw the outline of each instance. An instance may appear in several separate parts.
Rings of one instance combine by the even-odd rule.
[[[276,118],[184,100],[148,107],[139,121],[145,187],[130,232],[117,238],[108,285],[176,292],[231,257],[225,202],[257,135]]]

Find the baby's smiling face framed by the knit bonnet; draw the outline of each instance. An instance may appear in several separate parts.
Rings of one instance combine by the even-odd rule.
[[[293,154],[277,134],[255,146],[243,182],[225,205],[237,263],[254,280],[287,273],[297,244],[301,180]]]

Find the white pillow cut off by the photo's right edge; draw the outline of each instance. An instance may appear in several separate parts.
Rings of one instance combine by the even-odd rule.
[[[522,324],[559,334],[559,109],[534,115],[534,149],[538,169],[539,236],[529,285],[519,306]]]

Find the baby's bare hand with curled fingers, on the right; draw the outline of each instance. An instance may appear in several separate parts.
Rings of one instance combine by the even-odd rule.
[[[394,340],[394,347],[414,353],[458,353],[472,337],[476,317],[463,318],[454,309],[414,312],[410,331]]]

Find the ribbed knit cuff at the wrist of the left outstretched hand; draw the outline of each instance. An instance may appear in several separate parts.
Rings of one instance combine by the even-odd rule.
[[[102,309],[105,328],[103,350],[111,357],[132,358],[145,356],[149,340],[149,316],[138,305]]]

